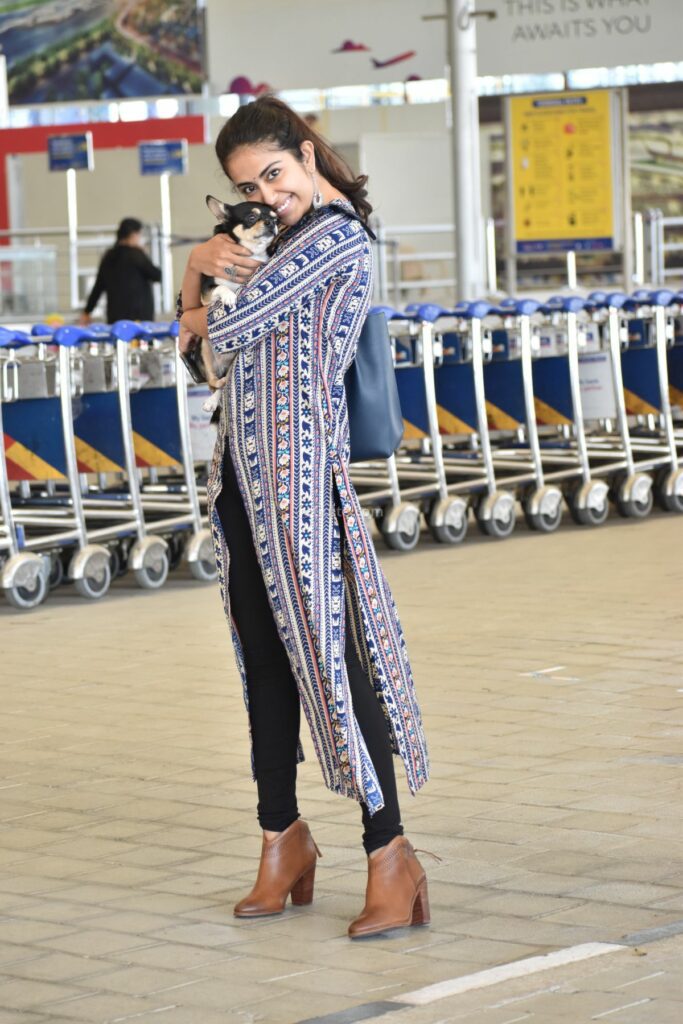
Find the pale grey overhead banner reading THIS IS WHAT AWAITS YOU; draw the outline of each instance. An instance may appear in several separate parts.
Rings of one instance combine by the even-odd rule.
[[[480,0],[479,75],[681,59],[681,0]]]

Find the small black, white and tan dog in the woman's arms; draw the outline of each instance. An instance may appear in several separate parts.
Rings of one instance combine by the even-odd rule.
[[[214,234],[228,234],[245,249],[249,249],[252,259],[265,263],[268,246],[278,231],[278,215],[264,203],[237,203],[230,206],[213,196],[207,196],[206,204],[217,218]],[[228,278],[208,278],[202,274],[202,304],[205,306],[220,299],[227,309],[232,309],[242,285]],[[205,380],[213,389],[213,394],[204,402],[203,409],[213,413],[220,401],[219,389],[225,385],[227,369],[234,353],[216,355],[207,338],[189,353],[187,368],[195,380]]]

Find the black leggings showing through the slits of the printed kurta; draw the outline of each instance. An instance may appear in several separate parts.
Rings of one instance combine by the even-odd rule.
[[[230,611],[245,657],[249,718],[261,828],[283,831],[299,817],[296,799],[297,744],[301,705],[285,646],[268,603],[249,520],[227,445],[222,490],[216,503],[229,566]],[[346,669],[355,718],[377,772],[384,807],[374,815],[362,808],[367,853],[402,836],[389,732],[371,680],[346,630]]]

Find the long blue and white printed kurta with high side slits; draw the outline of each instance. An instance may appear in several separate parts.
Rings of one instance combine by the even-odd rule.
[[[208,498],[245,700],[244,658],[229,613],[228,551],[215,510],[226,439],[326,784],[375,813],[384,799],[353,714],[346,628],[413,793],[427,780],[428,759],[402,630],[349,479],[344,375],[371,291],[367,232],[351,205],[338,200],[288,230],[234,309],[220,301],[210,307],[211,343],[236,358],[223,389]]]

